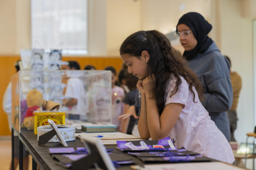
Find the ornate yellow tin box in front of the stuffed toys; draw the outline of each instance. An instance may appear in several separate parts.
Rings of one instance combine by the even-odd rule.
[[[48,125],[48,119],[54,121],[55,124],[65,124],[65,113],[62,111],[33,111],[34,115],[34,131],[37,134],[37,127]]]

